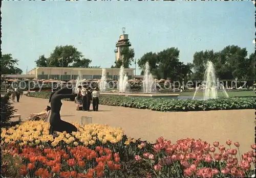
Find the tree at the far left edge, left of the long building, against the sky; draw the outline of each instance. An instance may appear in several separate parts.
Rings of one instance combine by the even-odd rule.
[[[2,74],[22,74],[22,69],[15,67],[18,64],[17,59],[13,59],[11,54],[1,56],[1,73]]]

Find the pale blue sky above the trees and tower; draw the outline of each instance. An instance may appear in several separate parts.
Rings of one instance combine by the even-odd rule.
[[[197,51],[232,44],[254,52],[255,9],[250,1],[3,1],[1,11],[2,54],[19,59],[24,72],[35,67],[39,55],[49,57],[56,45],[74,45],[91,65],[110,67],[122,27],[136,59],[168,47],[178,47],[185,63]]]

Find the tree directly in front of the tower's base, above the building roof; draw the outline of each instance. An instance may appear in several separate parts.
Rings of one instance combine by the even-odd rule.
[[[122,59],[118,59],[115,61],[115,66],[111,66],[111,68],[120,68],[123,66],[124,68],[130,68],[132,62],[134,62],[134,49],[127,47],[123,47],[121,50]]]

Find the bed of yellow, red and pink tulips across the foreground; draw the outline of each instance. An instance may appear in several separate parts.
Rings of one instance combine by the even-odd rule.
[[[191,138],[155,144],[127,138],[121,128],[73,123],[78,132],[48,134],[49,123],[26,121],[2,129],[2,175],[23,177],[238,177],[251,176],[255,144],[212,146]]]

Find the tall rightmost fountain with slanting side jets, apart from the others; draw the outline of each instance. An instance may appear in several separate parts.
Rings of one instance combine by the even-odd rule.
[[[204,75],[204,84],[202,85],[204,90],[203,100],[216,99],[218,98],[217,86],[219,86],[220,84],[216,80],[215,69],[212,62],[208,61],[206,66],[207,67]],[[196,88],[193,99],[195,98],[198,90],[199,88]],[[228,97],[228,94],[223,86],[222,86],[222,91],[224,93],[224,96]]]

